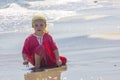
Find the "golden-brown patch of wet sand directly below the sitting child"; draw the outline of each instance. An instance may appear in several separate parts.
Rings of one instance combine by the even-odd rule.
[[[45,69],[44,71],[30,72],[24,75],[25,80],[61,80],[62,72],[67,70],[67,66]]]

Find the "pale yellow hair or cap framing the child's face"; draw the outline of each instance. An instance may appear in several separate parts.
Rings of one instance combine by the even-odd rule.
[[[45,22],[45,24],[47,24],[45,16],[43,16],[43,15],[40,14],[40,13],[35,13],[35,14],[33,15],[33,18],[32,18],[32,27],[33,27],[33,24],[34,24],[34,22],[35,22],[36,20],[42,20],[42,21]],[[45,27],[46,27],[46,26],[45,26]],[[46,28],[44,29],[44,32],[45,32],[45,33],[48,33],[48,31],[47,31]]]

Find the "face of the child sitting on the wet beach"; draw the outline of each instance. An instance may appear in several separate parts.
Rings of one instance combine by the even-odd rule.
[[[43,20],[36,20],[33,24],[35,32],[44,32],[46,23]]]

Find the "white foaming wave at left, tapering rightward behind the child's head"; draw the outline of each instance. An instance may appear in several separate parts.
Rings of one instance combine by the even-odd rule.
[[[27,28],[27,26],[31,27],[31,19],[36,12],[44,14],[48,22],[76,14],[74,11],[64,10],[30,10],[12,3],[8,7],[0,9],[0,31],[19,31],[22,28]]]

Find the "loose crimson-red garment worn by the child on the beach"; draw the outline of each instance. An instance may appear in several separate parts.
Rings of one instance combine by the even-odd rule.
[[[35,65],[34,54],[38,54],[42,56],[41,66],[56,66],[56,57],[54,54],[54,50],[58,49],[52,36],[48,33],[43,35],[43,42],[40,45],[37,37],[33,34],[29,35],[22,49],[22,53],[27,55],[28,61],[31,62],[32,65]],[[60,56],[62,64],[66,64],[66,58]]]

